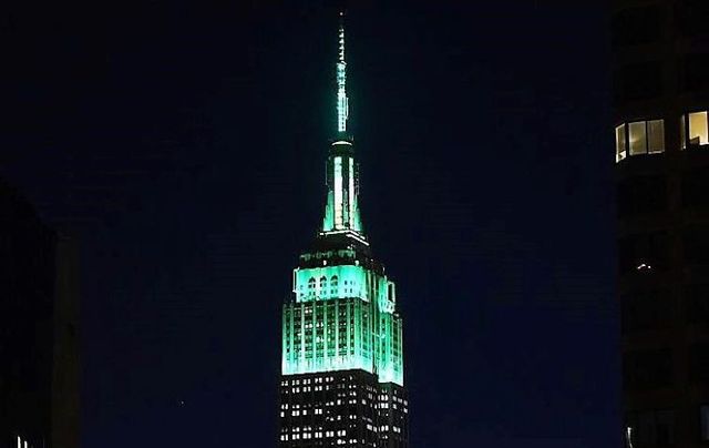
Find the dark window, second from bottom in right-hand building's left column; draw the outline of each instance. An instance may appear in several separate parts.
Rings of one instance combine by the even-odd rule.
[[[623,357],[623,384],[628,390],[667,387],[672,381],[672,358],[669,349],[638,350]]]

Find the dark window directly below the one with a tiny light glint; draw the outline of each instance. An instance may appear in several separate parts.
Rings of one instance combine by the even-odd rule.
[[[671,307],[666,289],[645,288],[621,298],[623,333],[667,328]]]

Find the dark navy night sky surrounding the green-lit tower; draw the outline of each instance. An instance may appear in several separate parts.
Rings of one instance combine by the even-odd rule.
[[[619,445],[603,3],[348,7],[412,448]],[[323,210],[336,3],[2,16],[0,175],[82,245],[84,448],[274,447],[280,304]]]

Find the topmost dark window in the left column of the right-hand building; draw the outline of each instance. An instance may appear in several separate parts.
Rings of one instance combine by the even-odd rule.
[[[648,43],[660,37],[659,7],[631,8],[613,18],[612,39],[615,47]]]

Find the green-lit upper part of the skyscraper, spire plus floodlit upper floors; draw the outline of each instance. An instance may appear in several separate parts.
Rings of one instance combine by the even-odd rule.
[[[359,211],[358,166],[347,132],[345,29],[340,24],[337,63],[338,140],[327,162],[322,237],[346,241],[331,252],[302,254],[294,269],[294,301],[282,310],[284,375],[363,369],[381,383],[403,386],[402,322],[395,287],[386,275],[362,266],[356,247],[369,246]],[[345,238],[342,238],[345,237]]]

